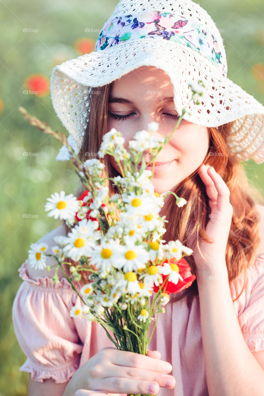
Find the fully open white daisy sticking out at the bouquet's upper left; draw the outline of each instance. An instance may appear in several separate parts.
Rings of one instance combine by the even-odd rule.
[[[61,220],[73,219],[80,208],[80,201],[73,194],[65,196],[64,191],[59,194],[54,192],[51,198],[47,198],[47,201],[49,202],[46,203],[44,210],[50,211],[48,217],[54,217],[54,219],[58,217]]]

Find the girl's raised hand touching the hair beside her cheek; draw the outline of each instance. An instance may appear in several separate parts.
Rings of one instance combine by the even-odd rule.
[[[230,190],[212,166],[203,164],[198,168],[198,173],[209,197],[211,213],[205,232],[213,243],[201,240],[199,245],[204,258],[196,246],[193,248],[193,258],[198,272],[220,274],[221,270],[226,271],[226,245],[233,215]]]

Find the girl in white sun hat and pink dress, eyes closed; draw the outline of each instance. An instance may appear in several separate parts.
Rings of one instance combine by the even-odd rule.
[[[198,4],[176,0],[121,0],[96,51],[55,67],[52,103],[83,161],[96,158],[111,128],[126,148],[152,121],[159,123],[154,136],[170,135],[190,101],[188,82],[205,83],[201,104],[188,104],[152,179],[155,192],[187,200],[178,208],[166,196],[160,214],[169,221],[163,239],[193,249],[186,259],[196,280],[171,296],[143,356],[114,348],[96,322],[70,317],[82,304],[63,272],[54,284],[54,271],[26,260],[13,324],[30,396],[263,395],[264,206],[253,200],[241,162],[264,162],[264,107],[226,74],[212,19]],[[150,150],[143,156],[147,162]],[[63,146],[57,160],[69,158]],[[103,177],[120,174],[113,157],[101,161]],[[108,187],[109,196],[118,192]],[[54,236],[68,231],[64,222],[38,242],[52,254]]]

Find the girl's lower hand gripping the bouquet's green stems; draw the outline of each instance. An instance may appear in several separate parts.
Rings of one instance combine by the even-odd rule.
[[[75,396],[157,394],[160,386],[172,389],[176,384],[174,377],[168,375],[172,366],[160,358],[158,351],[147,350],[145,356],[117,348],[103,348],[73,375],[73,382],[82,384]],[[166,381],[170,383],[166,384]]]

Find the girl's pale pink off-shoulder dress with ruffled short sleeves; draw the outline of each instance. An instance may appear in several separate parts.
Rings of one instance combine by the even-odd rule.
[[[115,346],[98,323],[69,315],[73,305],[83,303],[66,278],[56,285],[48,277],[29,278],[27,265],[26,260],[18,270],[23,282],[12,307],[15,335],[27,356],[19,369],[31,373],[37,382],[53,378],[63,383],[101,348]],[[231,282],[232,299],[241,292],[243,282],[243,272]],[[247,269],[245,290],[233,304],[249,349],[264,350],[264,254]],[[176,379],[176,386],[160,388],[159,396],[208,395],[199,297],[193,298],[189,308],[187,297],[165,306],[148,349],[161,352]]]

